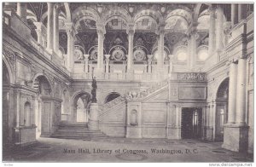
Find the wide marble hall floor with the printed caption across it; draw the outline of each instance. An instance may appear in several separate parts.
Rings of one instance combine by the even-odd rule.
[[[5,153],[3,162],[253,162],[220,142],[167,139],[39,138],[31,147]]]

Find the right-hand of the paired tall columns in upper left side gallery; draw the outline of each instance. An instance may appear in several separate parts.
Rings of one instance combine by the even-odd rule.
[[[54,6],[53,10],[53,22],[54,22],[54,34],[53,34],[53,41],[54,41],[54,51],[55,54],[59,55],[59,13],[60,9],[57,4]]]

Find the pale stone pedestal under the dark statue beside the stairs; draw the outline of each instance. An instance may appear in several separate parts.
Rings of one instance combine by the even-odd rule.
[[[98,103],[90,104],[89,130],[99,130],[99,106]]]

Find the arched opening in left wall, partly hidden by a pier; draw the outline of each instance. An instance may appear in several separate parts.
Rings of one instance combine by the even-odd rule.
[[[35,100],[35,124],[37,125],[36,136],[38,138],[42,132],[42,120],[44,120],[44,117],[47,117],[46,114],[43,115],[43,109],[49,109],[47,107],[43,107],[42,96],[50,96],[52,89],[48,79],[45,78],[44,75],[39,75],[34,79],[33,88],[38,90],[38,95]]]

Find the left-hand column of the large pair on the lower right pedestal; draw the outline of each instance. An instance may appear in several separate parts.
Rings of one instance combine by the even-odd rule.
[[[237,64],[230,63],[230,83],[229,83],[229,112],[228,123],[234,124],[236,117],[236,81],[237,81]]]

